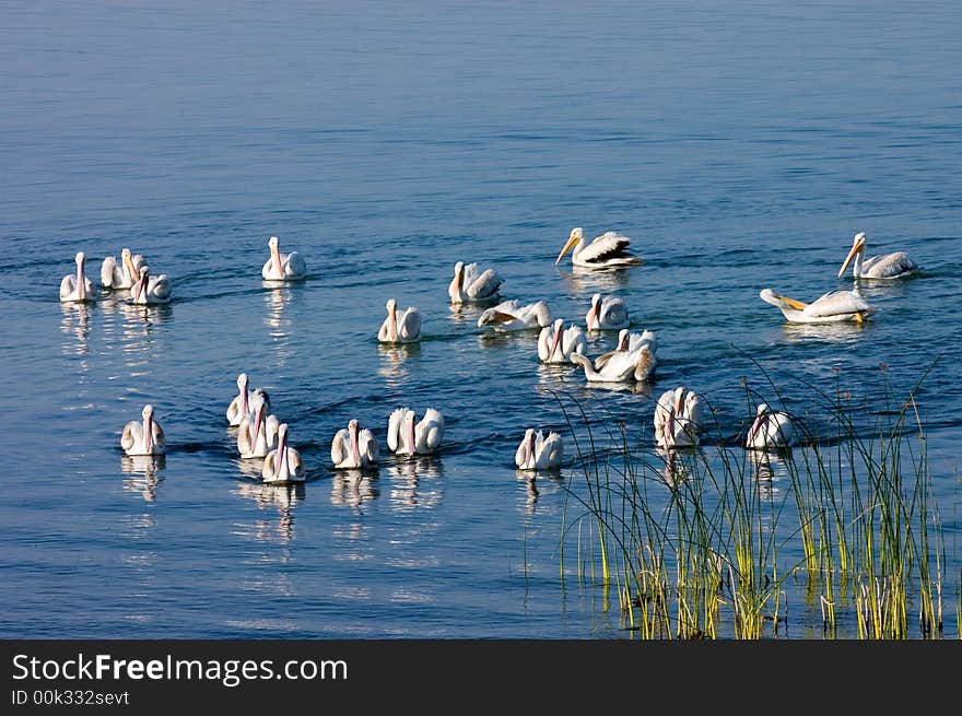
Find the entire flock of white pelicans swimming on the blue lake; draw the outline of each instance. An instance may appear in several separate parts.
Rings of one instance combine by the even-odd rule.
[[[558,255],[560,263],[571,251],[572,263],[587,269],[612,269],[636,266],[642,259],[629,250],[630,239],[614,231],[606,232],[586,242],[580,227],[571,235]],[[297,251],[281,254],[277,236],[268,240],[269,257],[261,268],[266,281],[297,281],[306,277],[307,268]],[[845,257],[838,278],[852,266],[855,279],[901,279],[918,270],[915,261],[904,251],[884,254],[866,259],[866,235],[855,235],[852,249]],[[60,283],[60,301],[95,302],[97,292],[84,272],[85,257],[77,254],[77,273],[63,277]],[[454,278],[448,285],[451,304],[491,304],[497,301],[502,279],[494,269],[482,269],[478,263],[458,261]],[[164,304],[171,301],[172,282],[165,273],[153,275],[141,255],[132,255],[128,248],[120,254],[120,261],[108,256],[101,267],[101,287],[106,291],[128,291],[129,300],[138,305]],[[793,322],[861,322],[876,309],[853,291],[831,291],[811,303],[803,303],[764,289],[760,297],[776,307]],[[377,339],[383,343],[411,343],[421,337],[421,314],[409,306],[399,309],[390,298]],[[648,380],[656,365],[658,341],[650,330],[634,333],[627,309],[618,296],[595,294],[585,315],[585,326],[572,324],[564,327],[561,318],[552,319],[543,301],[520,305],[517,301],[503,301],[483,310],[478,326],[494,330],[539,329],[538,356],[544,363],[574,364],[580,366],[589,382],[625,383]],[[594,360],[586,355],[586,331],[618,330],[614,350]],[[265,483],[282,484],[305,479],[304,463],[296,448],[288,441],[288,424],[281,423],[270,412],[270,398],[262,388],[251,389],[248,376],[237,377],[237,395],[226,408],[225,416],[237,427],[237,451],[245,459],[260,459],[261,478]],[[697,445],[703,431],[704,403],[696,392],[678,387],[665,391],[655,408],[654,433],[658,447],[674,448]],[[429,408],[418,418],[410,408],[391,412],[387,425],[387,447],[398,456],[431,455],[441,446],[444,435],[444,418]],[[793,419],[785,412],[758,406],[754,420],[746,436],[748,449],[787,447],[797,442]],[[120,435],[120,446],[128,456],[159,456],[166,449],[166,438],[161,424],[154,419],[153,407],[144,406],[141,420],[128,422]],[[337,432],[331,441],[330,459],[335,468],[359,469],[377,463],[379,446],[371,429],[356,420]],[[564,456],[564,444],[556,432],[547,435],[542,430],[529,427],[515,453],[515,463],[521,470],[558,469]]]

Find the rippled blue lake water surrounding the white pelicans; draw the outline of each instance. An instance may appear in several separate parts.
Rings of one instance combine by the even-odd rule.
[[[958,4],[48,2],[2,16],[3,636],[627,637],[617,600],[561,561],[577,474],[564,396],[650,449],[662,390],[702,394],[725,442],[748,425],[746,385],[774,398],[770,376],[813,424],[817,391],[849,392],[870,434],[883,379],[902,400],[936,361],[916,400],[958,636]],[[621,231],[643,265],[555,266],[574,226]],[[858,231],[870,255],[922,266],[863,287],[880,308],[866,325],[789,325],[759,298],[850,287],[836,272]],[[261,282],[271,235],[305,257],[304,282]],[[168,306],[58,302],[77,251],[96,279],[124,246],[172,278]],[[620,295],[658,336],[652,386],[587,388],[539,364],[537,333],[485,334],[479,309],[448,301],[459,260],[570,321],[593,293]],[[377,343],[391,296],[422,312],[420,344]],[[289,423],[302,489],[260,485],[237,457],[224,410],[242,371]],[[119,447],[146,402],[168,441],[149,474]],[[437,457],[386,455],[401,404],[445,415]],[[352,418],[383,450],[360,481],[329,468]],[[528,426],[568,437],[560,476],[516,471]],[[821,633],[803,613],[789,636]]]

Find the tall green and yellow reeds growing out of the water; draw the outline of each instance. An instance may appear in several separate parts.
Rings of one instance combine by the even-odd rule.
[[[801,444],[777,453],[746,450],[717,423],[711,447],[646,449],[647,425],[633,438],[603,406],[554,394],[577,454],[567,492],[580,508],[579,578],[588,565],[591,584],[607,594],[613,583],[624,626],[643,638],[778,634],[799,571],[826,637],[843,613],[861,638],[910,637],[910,613],[918,636],[940,636],[947,553],[916,401],[932,366],[898,401],[882,366],[885,404],[868,431],[858,425],[873,413],[844,376],[833,395],[812,386],[819,414],[797,421]],[[777,397],[771,379],[769,391]],[[760,398],[748,386],[746,396]],[[784,488],[772,488],[772,462]]]

